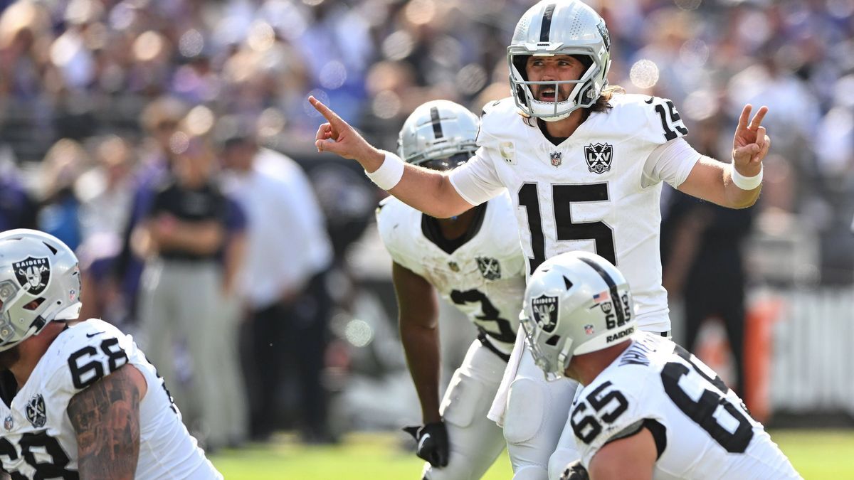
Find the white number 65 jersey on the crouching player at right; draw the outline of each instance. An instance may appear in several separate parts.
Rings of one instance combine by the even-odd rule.
[[[646,427],[658,448],[653,478],[799,478],[711,368],[664,337],[633,340],[576,396],[570,424],[582,465]]]

